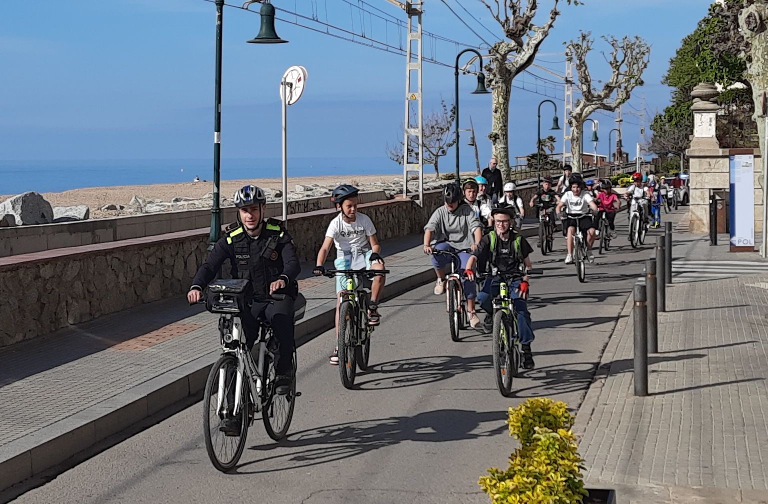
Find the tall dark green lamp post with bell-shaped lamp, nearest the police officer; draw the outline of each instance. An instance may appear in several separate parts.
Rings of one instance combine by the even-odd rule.
[[[243,4],[243,8],[256,3],[258,0],[249,0]],[[208,250],[213,250],[221,233],[221,205],[219,188],[221,184],[221,41],[223,36],[224,0],[216,0],[216,77],[214,87],[214,204],[210,209],[210,237]],[[277,36],[275,31],[275,7],[272,4],[263,3],[260,10],[261,29],[259,35],[251,43],[274,44],[287,42]]]

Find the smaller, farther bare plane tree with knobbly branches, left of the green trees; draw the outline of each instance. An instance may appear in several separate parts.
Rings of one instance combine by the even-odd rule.
[[[648,66],[650,46],[640,37],[625,36],[621,40],[613,36],[602,38],[611,45],[607,63],[611,67],[611,78],[598,91],[592,87],[592,76],[587,65],[587,56],[594,40],[591,32],[581,32],[578,41],[568,43],[568,59],[574,63],[578,75],[581,98],[574,104],[568,124],[571,126],[571,166],[581,171],[581,136],[584,121],[597,110],[615,111],[629,100],[632,91],[643,85],[643,71]]]

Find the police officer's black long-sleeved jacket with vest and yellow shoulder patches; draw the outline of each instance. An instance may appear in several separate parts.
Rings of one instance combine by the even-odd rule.
[[[266,296],[270,292],[270,284],[282,278],[286,290],[278,292],[296,297],[296,277],[301,270],[299,257],[296,256],[293,238],[280,227],[280,221],[267,219],[255,239],[247,234],[243,226],[228,230],[197,271],[192,288],[202,290],[210,284],[227,259],[232,264],[232,277],[249,279],[254,296]]]

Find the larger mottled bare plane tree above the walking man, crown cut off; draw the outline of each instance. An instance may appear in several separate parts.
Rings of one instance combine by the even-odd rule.
[[[549,35],[558,18],[558,3],[554,0],[549,17],[541,25],[534,25],[538,11],[537,0],[479,0],[488,8],[493,18],[504,31],[505,40],[496,42],[488,51],[491,61],[485,65],[488,85],[493,91],[492,128],[488,134],[492,143],[493,157],[498,160],[498,167],[509,178],[509,103],[512,81],[522,71],[531,66],[541,43]],[[581,2],[568,0],[578,5]]]

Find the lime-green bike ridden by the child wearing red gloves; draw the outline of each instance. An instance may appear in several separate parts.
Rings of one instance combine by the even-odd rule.
[[[492,358],[496,388],[505,397],[512,391],[512,379],[519,376],[523,354],[510,288],[516,281],[523,280],[526,274],[543,273],[542,270],[499,272],[493,268],[488,276],[498,277],[499,280],[498,296],[493,298]]]

